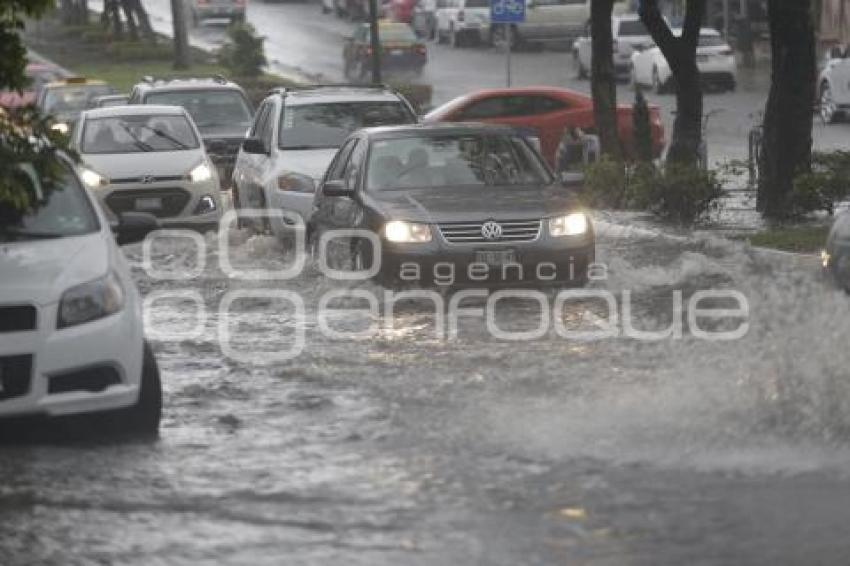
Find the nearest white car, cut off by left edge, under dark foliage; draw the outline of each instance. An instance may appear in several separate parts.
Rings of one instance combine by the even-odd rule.
[[[99,430],[155,435],[162,392],[141,301],[116,245],[156,228],[125,214],[113,227],[69,160],[56,175],[22,164],[13,181],[39,203],[0,204],[0,429],[8,419],[97,413]]]

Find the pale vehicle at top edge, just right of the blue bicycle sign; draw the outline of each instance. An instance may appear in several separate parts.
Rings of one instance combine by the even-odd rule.
[[[512,27],[511,40],[520,43],[575,41],[590,21],[592,0],[524,0],[525,21]],[[616,0],[613,14],[629,10],[628,0]],[[498,38],[503,26],[492,26],[491,35]]]

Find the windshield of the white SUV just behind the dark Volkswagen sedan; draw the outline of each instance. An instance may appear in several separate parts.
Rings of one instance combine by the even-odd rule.
[[[360,128],[412,124],[401,102],[341,102],[288,106],[281,116],[281,149],[337,148]]]

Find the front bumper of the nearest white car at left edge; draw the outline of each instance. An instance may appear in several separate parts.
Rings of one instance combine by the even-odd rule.
[[[143,356],[140,313],[125,307],[101,320],[57,330],[57,309],[57,303],[39,308],[39,330],[2,336],[0,358],[30,356],[31,365],[28,380],[14,384],[14,394],[13,376],[3,376],[7,393],[0,395],[0,417],[73,415],[135,404]]]

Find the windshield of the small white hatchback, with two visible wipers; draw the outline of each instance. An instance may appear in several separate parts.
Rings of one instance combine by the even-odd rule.
[[[114,116],[86,120],[82,153],[139,153],[198,149],[185,116]]]

